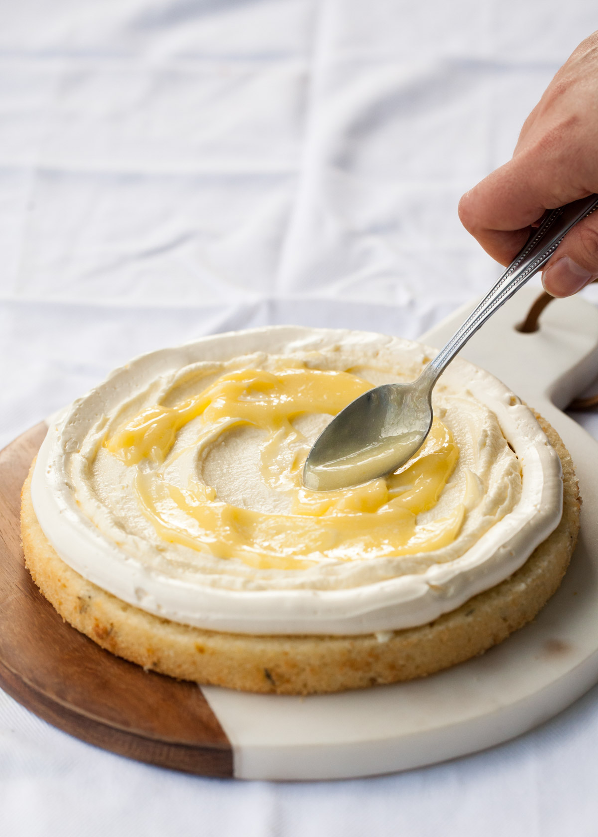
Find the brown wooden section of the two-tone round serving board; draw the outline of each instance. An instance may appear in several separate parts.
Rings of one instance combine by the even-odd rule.
[[[192,683],[108,654],[64,622],[23,563],[21,486],[47,427],[0,453],[0,686],[83,741],[167,768],[232,776],[229,740]]]

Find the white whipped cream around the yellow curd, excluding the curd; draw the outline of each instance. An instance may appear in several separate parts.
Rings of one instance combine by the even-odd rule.
[[[436,385],[435,415],[458,460],[436,502],[417,514],[419,540],[394,552],[384,537],[368,549],[348,538],[291,554],[282,537],[277,548],[250,544],[235,552],[224,544],[223,551],[221,542],[202,542],[184,504],[158,502],[151,514],[140,505],[139,485],[159,478],[180,494],[192,480],[220,507],[292,523],[289,516],[302,508],[291,475],[327,413],[306,411],[293,421],[268,480],[258,467],[263,439],[250,424],[229,423],[213,434],[204,428],[202,435],[201,417],[193,418],[164,455],[134,463],[115,455],[114,440],[143,410],[187,403],[223,375],[307,368],[350,372],[367,388],[413,380],[433,354],[365,332],[272,327],[139,357],[51,423],[32,482],[40,525],[85,578],[183,624],[249,634],[365,634],[430,622],[522,566],[562,513],[557,454],[533,413],[488,372],[457,358]],[[458,525],[434,548],[430,532],[446,521]]]

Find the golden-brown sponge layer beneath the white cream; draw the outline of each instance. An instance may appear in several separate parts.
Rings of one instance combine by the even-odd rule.
[[[181,680],[254,692],[307,695],[413,680],[482,654],[528,623],[559,588],[575,548],[580,496],[570,455],[538,417],[563,465],[559,526],[516,573],[430,624],[384,636],[225,634],[159,619],[90,583],[54,551],[23,485],[25,562],[45,598],[112,654]]]

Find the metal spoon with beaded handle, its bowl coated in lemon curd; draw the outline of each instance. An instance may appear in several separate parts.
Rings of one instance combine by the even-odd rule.
[[[386,383],[356,398],[316,439],[303,467],[312,490],[348,488],[391,473],[424,444],[432,389],[461,347],[494,311],[542,269],[564,235],[598,207],[598,195],[554,209],[434,360],[413,383]]]

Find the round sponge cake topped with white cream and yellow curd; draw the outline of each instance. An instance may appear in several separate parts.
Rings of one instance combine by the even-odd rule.
[[[52,424],[23,487],[35,582],[113,653],[247,691],[408,680],[482,653],[534,618],[575,546],[554,430],[457,359],[403,468],[302,485],[327,421],[432,353],[281,327],[116,370]]]

